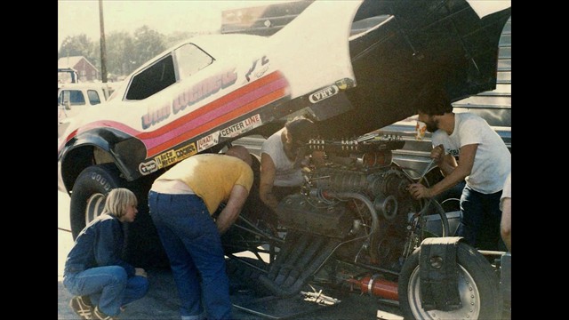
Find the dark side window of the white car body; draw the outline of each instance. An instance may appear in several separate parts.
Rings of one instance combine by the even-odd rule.
[[[126,92],[127,100],[143,100],[176,82],[172,55],[156,61],[152,66],[132,77]]]

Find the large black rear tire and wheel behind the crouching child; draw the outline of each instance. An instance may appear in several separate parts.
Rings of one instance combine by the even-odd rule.
[[[136,220],[124,224],[124,260],[136,267],[166,267],[168,259],[148,214],[148,189],[155,176],[133,182],[120,178],[115,164],[92,165],[76,179],[71,193],[70,221],[73,239],[97,218],[105,206],[105,196],[113,188],[129,188],[139,205]]]

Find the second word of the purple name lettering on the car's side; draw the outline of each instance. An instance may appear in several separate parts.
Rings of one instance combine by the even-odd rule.
[[[177,114],[186,107],[211,96],[213,93],[235,84],[236,80],[237,74],[235,69],[205,79],[172,100],[172,113],[174,115]]]

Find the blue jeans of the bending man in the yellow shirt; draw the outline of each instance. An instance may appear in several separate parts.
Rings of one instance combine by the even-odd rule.
[[[150,216],[164,245],[180,297],[182,319],[230,319],[231,300],[220,233],[195,195],[150,190]]]

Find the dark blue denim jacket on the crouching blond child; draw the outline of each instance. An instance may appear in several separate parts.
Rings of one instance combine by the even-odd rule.
[[[123,223],[115,216],[101,215],[76,237],[65,261],[64,274],[95,267],[121,266],[128,276],[134,276],[134,267],[121,259],[123,243]]]

